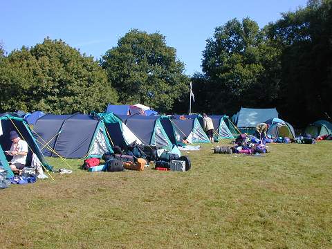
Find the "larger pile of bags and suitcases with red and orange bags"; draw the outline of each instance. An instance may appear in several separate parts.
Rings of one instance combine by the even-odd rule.
[[[112,147],[112,153],[106,153],[100,158],[88,158],[84,160],[82,169],[89,172],[123,172],[125,169],[143,171],[154,163],[156,170],[185,172],[191,168],[190,158],[181,156],[181,151],[173,146],[156,147],[150,145],[139,145],[132,142],[127,149],[119,146]]]

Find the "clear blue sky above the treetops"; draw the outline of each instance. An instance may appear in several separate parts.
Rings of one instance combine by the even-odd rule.
[[[216,26],[250,17],[262,28],[280,13],[305,5],[306,0],[8,0],[0,5],[0,42],[9,53],[48,36],[99,59],[131,28],[138,28],[165,35],[167,46],[176,48],[185,63],[185,73],[192,75],[201,71],[205,41]]]

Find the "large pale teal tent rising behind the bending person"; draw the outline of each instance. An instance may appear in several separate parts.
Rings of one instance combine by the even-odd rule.
[[[262,123],[270,118],[278,118],[279,113],[277,109],[251,109],[243,108],[233,116],[233,122],[239,128],[256,127],[257,124]]]

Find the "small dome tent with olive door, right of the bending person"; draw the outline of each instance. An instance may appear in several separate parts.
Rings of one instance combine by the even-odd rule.
[[[274,138],[287,137],[295,140],[294,128],[288,122],[280,118],[270,118],[265,123],[270,124],[270,128],[268,128],[266,134],[270,134]]]

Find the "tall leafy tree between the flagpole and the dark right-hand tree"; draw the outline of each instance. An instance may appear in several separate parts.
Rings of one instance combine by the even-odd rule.
[[[279,55],[279,50],[268,44],[265,31],[249,18],[242,22],[232,19],[215,28],[202,60],[210,85],[210,111],[230,114],[241,106],[272,104],[277,98]]]

